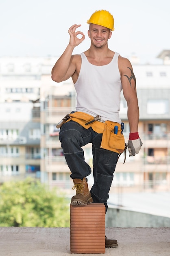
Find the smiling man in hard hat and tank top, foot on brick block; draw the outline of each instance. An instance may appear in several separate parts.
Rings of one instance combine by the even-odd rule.
[[[83,32],[76,31],[81,25],[72,25],[68,30],[70,42],[52,68],[52,80],[62,82],[72,77],[77,93],[76,111],[70,113],[68,120],[63,119],[63,123],[67,121],[59,135],[76,188],[71,204],[104,203],[107,211],[118,155],[124,150],[123,123],[119,117],[121,90],[128,106],[129,156],[139,153],[142,146],[138,135],[139,108],[130,61],[108,48],[114,30],[113,16],[105,10],[96,11],[87,23],[90,48],[72,54],[85,39]],[[91,168],[82,149],[87,143],[92,143],[93,152],[94,185],[90,191],[86,177]],[[106,247],[116,245],[117,240],[106,238]]]

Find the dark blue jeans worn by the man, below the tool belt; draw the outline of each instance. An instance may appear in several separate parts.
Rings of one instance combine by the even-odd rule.
[[[92,172],[89,164],[85,162],[84,151],[81,148],[92,143],[94,185],[90,192],[93,202],[104,203],[107,211],[107,199],[118,153],[100,148],[102,134],[95,132],[91,127],[85,129],[74,121],[61,126],[59,139],[72,179],[83,179]]]

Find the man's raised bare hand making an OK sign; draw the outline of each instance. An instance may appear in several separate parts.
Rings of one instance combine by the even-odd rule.
[[[76,31],[76,29],[78,28],[78,27],[81,27],[81,25],[76,25],[76,24],[74,24],[74,25],[72,25],[71,27],[70,27],[70,29],[68,30],[68,33],[70,34],[70,45],[72,45],[72,46],[77,46],[77,45],[79,45],[80,43],[82,43],[83,42],[83,40],[85,40],[85,35],[83,34],[83,32],[81,32],[81,31]],[[81,38],[78,38],[77,36],[78,35],[82,35],[82,37]]]

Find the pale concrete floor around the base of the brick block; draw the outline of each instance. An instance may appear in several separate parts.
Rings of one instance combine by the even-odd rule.
[[[170,227],[106,228],[118,248],[105,254],[70,254],[70,228],[0,227],[0,256],[170,256]]]

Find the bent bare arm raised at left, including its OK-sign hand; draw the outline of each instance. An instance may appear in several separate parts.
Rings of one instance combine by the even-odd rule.
[[[85,35],[81,31],[75,31],[76,28],[80,26],[81,25],[74,24],[68,30],[68,33],[70,34],[70,42],[52,68],[51,77],[55,82],[61,82],[69,79],[76,70],[76,62],[74,61],[75,58],[74,55],[72,55],[72,52],[74,47],[79,45],[85,39]],[[82,35],[80,39],[77,37],[78,34]]]

